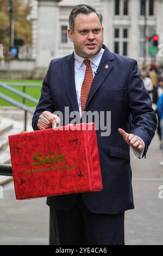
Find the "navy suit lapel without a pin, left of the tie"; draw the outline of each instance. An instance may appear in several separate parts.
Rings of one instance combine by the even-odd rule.
[[[64,74],[65,88],[70,100],[73,111],[79,112],[76,86],[74,81],[74,53],[67,58],[65,65],[62,67]]]

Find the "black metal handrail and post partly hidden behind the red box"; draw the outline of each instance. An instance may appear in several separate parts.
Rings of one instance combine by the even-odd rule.
[[[11,164],[0,163],[0,175],[12,176]],[[55,220],[54,218],[55,216],[52,217],[52,214],[55,214],[55,213],[49,210],[49,245],[58,245],[57,235],[54,230],[55,223],[53,223],[53,220]]]

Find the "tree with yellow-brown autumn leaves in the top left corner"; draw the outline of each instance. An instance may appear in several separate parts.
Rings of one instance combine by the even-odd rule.
[[[14,38],[23,39],[24,44],[31,45],[32,21],[27,20],[30,14],[30,0],[12,0]],[[9,50],[10,41],[10,1],[0,0],[0,44],[3,45],[4,53]]]

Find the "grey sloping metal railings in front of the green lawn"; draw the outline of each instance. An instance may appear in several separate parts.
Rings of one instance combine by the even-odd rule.
[[[14,83],[12,85],[16,85],[16,84]],[[25,102],[26,102],[26,100],[29,100],[29,101],[32,101],[36,104],[38,103],[37,99],[35,99],[34,97],[25,93],[26,92],[26,87],[27,86],[36,86],[37,87],[37,86],[40,86],[40,85],[39,84],[33,85],[33,84],[27,84],[27,83],[23,84],[23,83],[21,83],[21,85],[19,84],[19,86],[23,86],[23,93],[20,92],[19,90],[16,90],[16,89],[12,88],[11,86],[9,86],[9,84],[5,84],[5,83],[0,82],[0,87],[8,90],[8,92],[11,92],[11,93],[14,93],[18,96],[21,96],[22,99],[23,99],[23,103],[21,103],[17,100],[14,100],[11,97],[9,97],[9,96],[7,96],[3,93],[0,93],[0,99],[2,99],[4,101],[7,101],[7,102],[11,103],[12,105],[24,110],[24,131],[26,131],[27,130],[27,113],[33,114],[34,110],[33,110],[33,108],[28,107],[25,104]]]

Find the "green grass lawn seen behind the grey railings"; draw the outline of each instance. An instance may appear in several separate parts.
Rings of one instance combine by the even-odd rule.
[[[42,80],[0,80],[1,82],[4,83],[40,83],[42,85]],[[41,95],[41,85],[40,87],[26,87],[26,94],[33,96],[35,99],[39,99]],[[12,86],[12,88],[20,90],[23,92],[23,87],[22,86]],[[11,97],[14,100],[17,100],[21,103],[23,103],[23,99],[21,96],[18,96],[14,93],[8,92],[8,90],[0,87],[0,92]],[[30,102],[26,100],[26,105],[29,107],[35,107],[36,104],[34,102]],[[0,106],[13,106],[10,103],[0,99]]]

